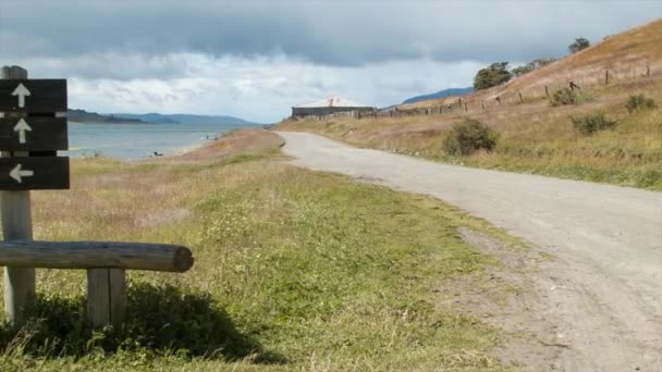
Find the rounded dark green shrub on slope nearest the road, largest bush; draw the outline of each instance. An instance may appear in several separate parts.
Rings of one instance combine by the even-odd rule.
[[[453,156],[467,156],[479,149],[491,151],[494,146],[497,134],[474,119],[455,123],[443,141],[444,151]]]

